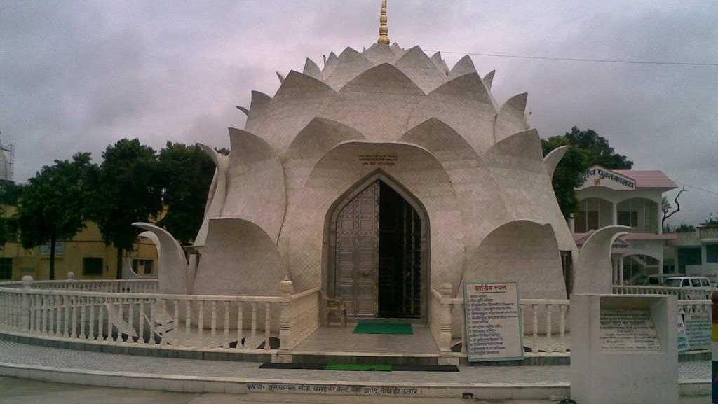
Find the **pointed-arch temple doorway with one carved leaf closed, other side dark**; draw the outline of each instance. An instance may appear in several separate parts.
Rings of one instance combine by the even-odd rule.
[[[382,174],[334,204],[327,217],[330,296],[355,318],[426,316],[428,220],[424,207]]]

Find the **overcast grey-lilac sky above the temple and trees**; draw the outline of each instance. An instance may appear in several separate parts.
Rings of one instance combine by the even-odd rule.
[[[274,94],[275,70],[370,46],[380,3],[2,1],[0,131],[15,178],[123,137],[228,146],[226,128],[244,125],[235,105]],[[389,1],[392,41],[444,52],[717,63],[717,21],[706,0]],[[499,101],[529,93],[541,136],[593,128],[635,169],[692,187],[674,223],[718,211],[718,66],[473,59],[497,70]]]

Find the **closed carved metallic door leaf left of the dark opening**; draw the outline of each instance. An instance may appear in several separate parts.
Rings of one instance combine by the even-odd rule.
[[[379,182],[371,184],[337,217],[336,296],[353,317],[378,312]]]

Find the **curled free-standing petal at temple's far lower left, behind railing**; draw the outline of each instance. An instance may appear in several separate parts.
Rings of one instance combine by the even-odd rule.
[[[159,293],[188,294],[190,285],[187,282],[187,258],[182,245],[174,240],[167,230],[149,223],[135,222],[133,226],[154,233],[157,239],[150,238],[157,243],[159,268]]]

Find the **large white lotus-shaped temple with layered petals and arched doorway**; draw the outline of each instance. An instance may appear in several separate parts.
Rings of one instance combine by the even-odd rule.
[[[527,94],[498,102],[495,72],[390,46],[383,30],[323,68],[278,73],[274,96],[254,91],[228,156],[203,146],[217,169],[192,255],[141,225],[162,246],[160,291],[279,296],[286,279],[350,318],[432,329],[432,293],[460,298],[465,282],[518,281],[522,299],[610,293],[623,228],[595,232],[579,255],[551,187],[566,149],[544,157]]]

